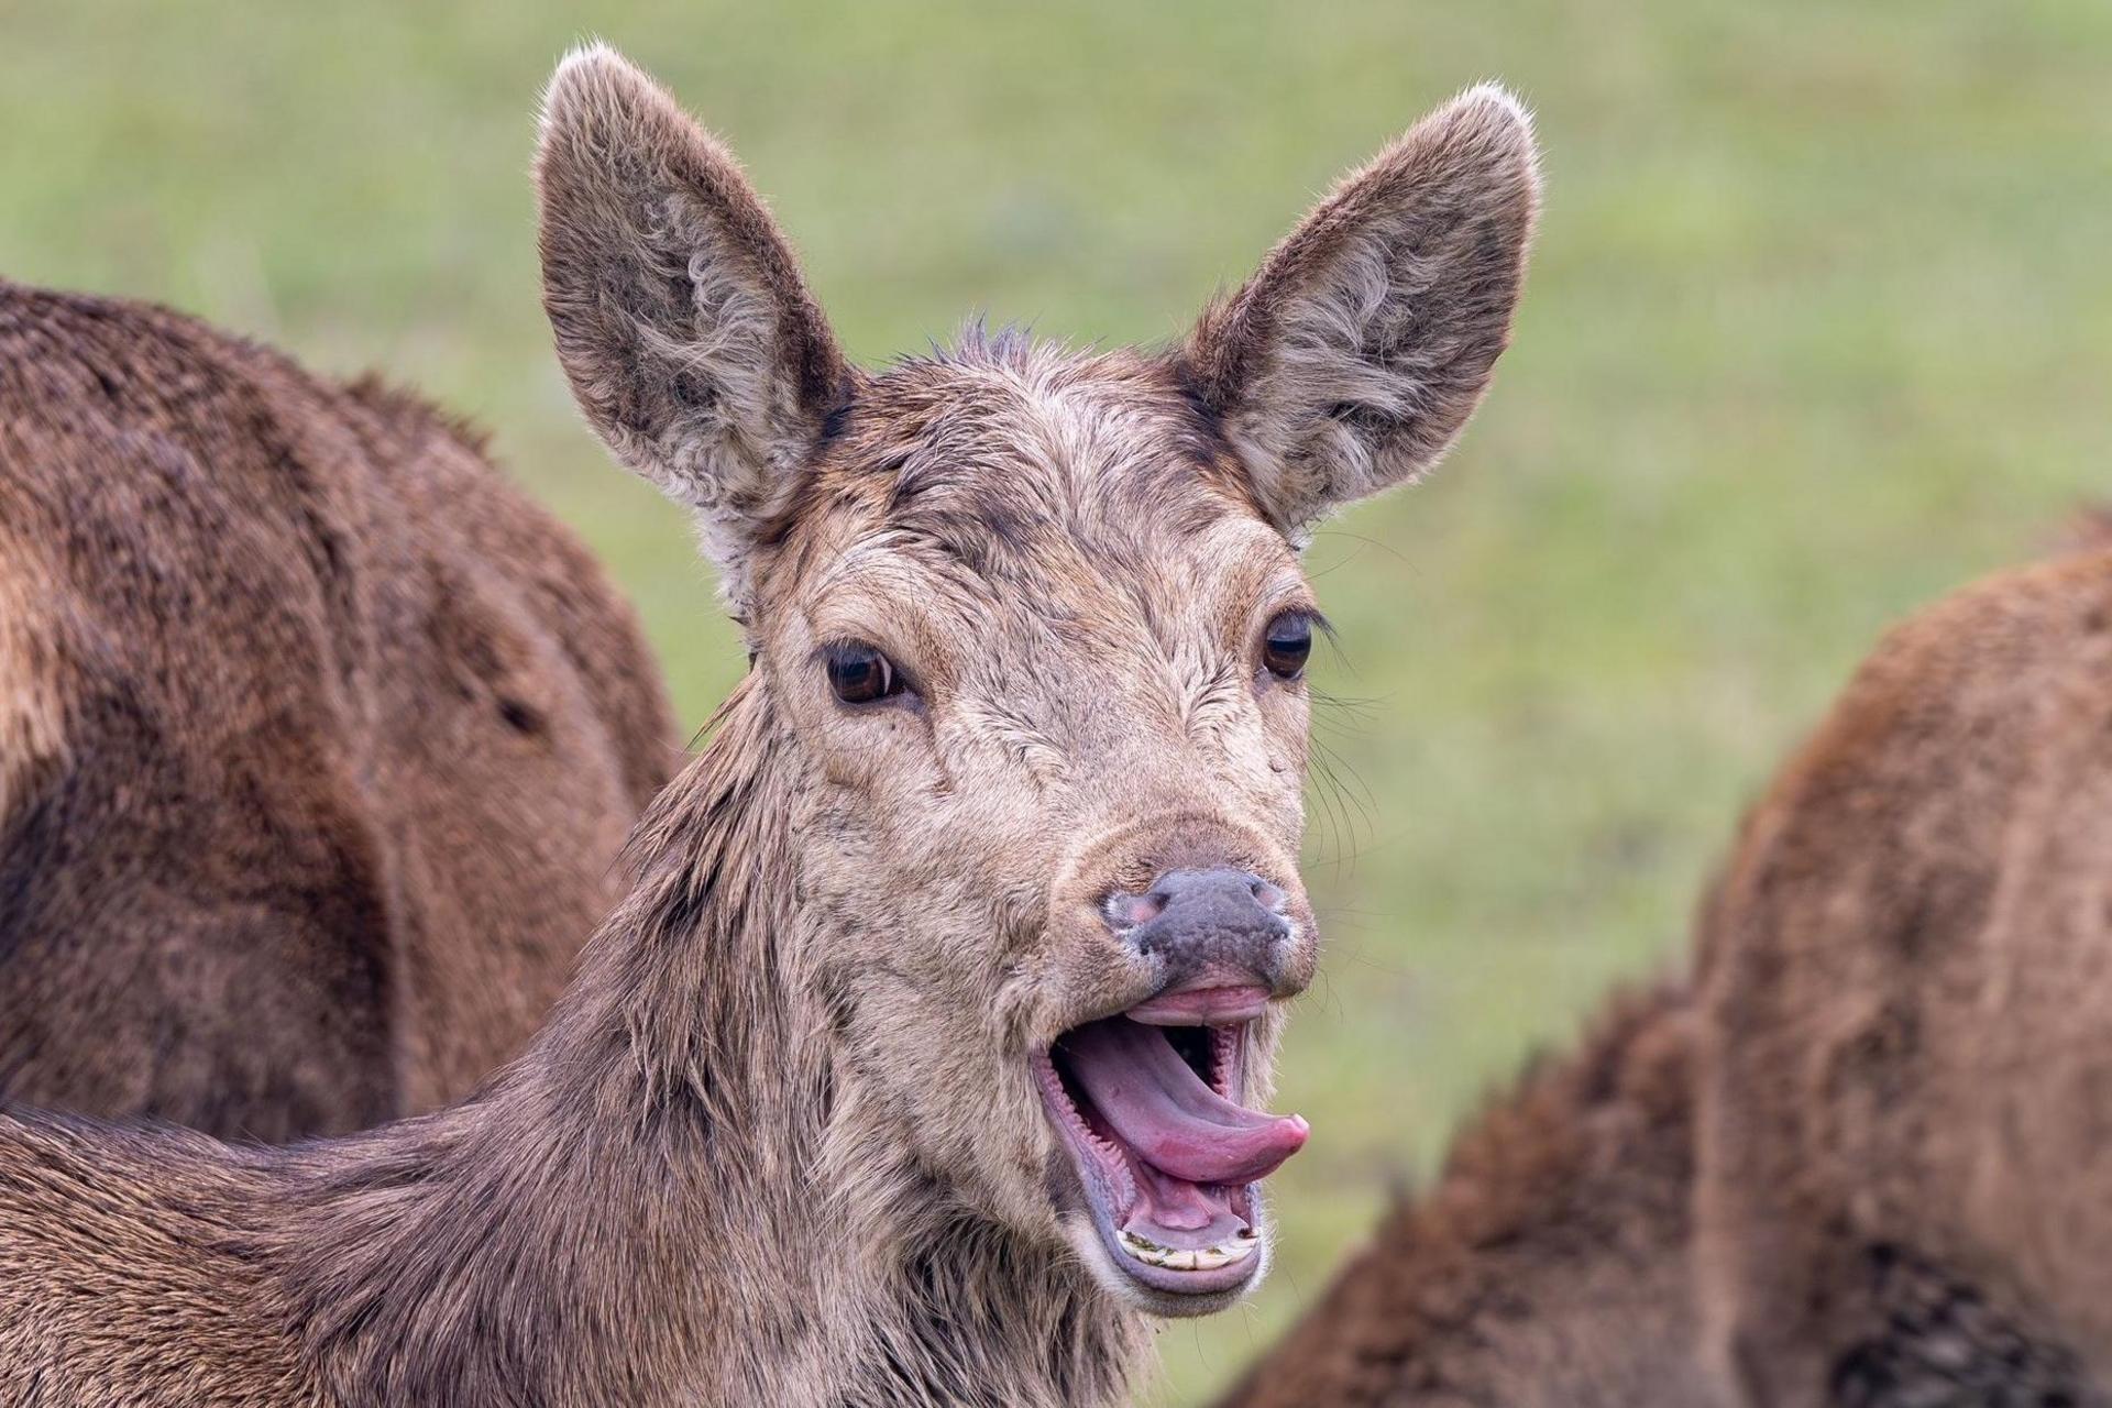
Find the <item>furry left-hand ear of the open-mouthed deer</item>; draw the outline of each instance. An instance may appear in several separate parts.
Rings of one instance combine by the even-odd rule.
[[[748,602],[748,551],[792,498],[851,372],[733,156],[596,44],[558,65],[534,163],[543,308],[608,448],[697,509]]]

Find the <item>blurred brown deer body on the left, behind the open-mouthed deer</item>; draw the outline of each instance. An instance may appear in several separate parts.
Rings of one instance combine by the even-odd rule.
[[[460,1098],[676,756],[456,426],[0,283],[0,1096],[262,1140]]]

